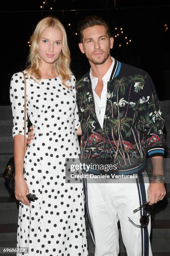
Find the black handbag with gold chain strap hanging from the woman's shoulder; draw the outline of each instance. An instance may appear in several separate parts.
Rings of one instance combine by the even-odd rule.
[[[23,73],[24,77],[24,156],[25,156],[25,133],[26,133],[26,102],[27,102],[27,87],[26,87],[26,78],[25,74]],[[5,182],[7,183],[8,187],[11,189],[15,189],[15,164],[14,164],[14,157],[11,157],[10,160],[7,163],[7,167],[5,168],[5,171],[3,173],[3,177],[5,179]]]

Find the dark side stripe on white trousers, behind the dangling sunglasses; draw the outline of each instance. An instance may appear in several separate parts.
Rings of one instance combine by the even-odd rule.
[[[136,184],[138,187],[138,194],[139,194],[139,202],[140,205],[143,205],[146,200],[146,192],[145,192],[145,183],[143,180],[143,175],[139,174],[138,179],[136,179]],[[142,208],[140,210],[140,216],[145,215],[145,209]],[[148,234],[148,228],[141,228],[141,237],[142,237],[142,254],[141,256],[148,256],[149,255],[149,234]]]

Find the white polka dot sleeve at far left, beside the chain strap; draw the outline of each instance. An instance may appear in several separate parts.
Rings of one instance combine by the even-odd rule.
[[[13,74],[10,83],[10,103],[13,111],[13,137],[24,135],[24,79],[21,72]],[[28,119],[26,114],[26,137],[28,137]]]

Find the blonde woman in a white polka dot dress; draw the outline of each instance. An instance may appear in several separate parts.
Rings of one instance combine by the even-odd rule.
[[[75,77],[65,29],[57,18],[37,24],[30,38],[27,114],[35,138],[24,147],[24,80],[13,75],[15,197],[20,200],[17,247],[27,255],[87,256],[84,201],[81,184],[65,184],[65,158],[78,157]],[[27,129],[28,133],[28,129]],[[24,167],[24,174],[23,174]],[[38,197],[28,202],[26,195]],[[20,255],[20,254],[18,254]]]

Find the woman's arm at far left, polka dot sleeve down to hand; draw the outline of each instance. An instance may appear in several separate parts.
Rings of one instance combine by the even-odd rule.
[[[13,75],[10,84],[10,103],[13,110],[13,137],[15,161],[15,197],[25,205],[30,205],[26,197],[29,194],[28,185],[23,176],[24,165],[24,81],[23,74]],[[26,120],[26,136],[28,134]]]

